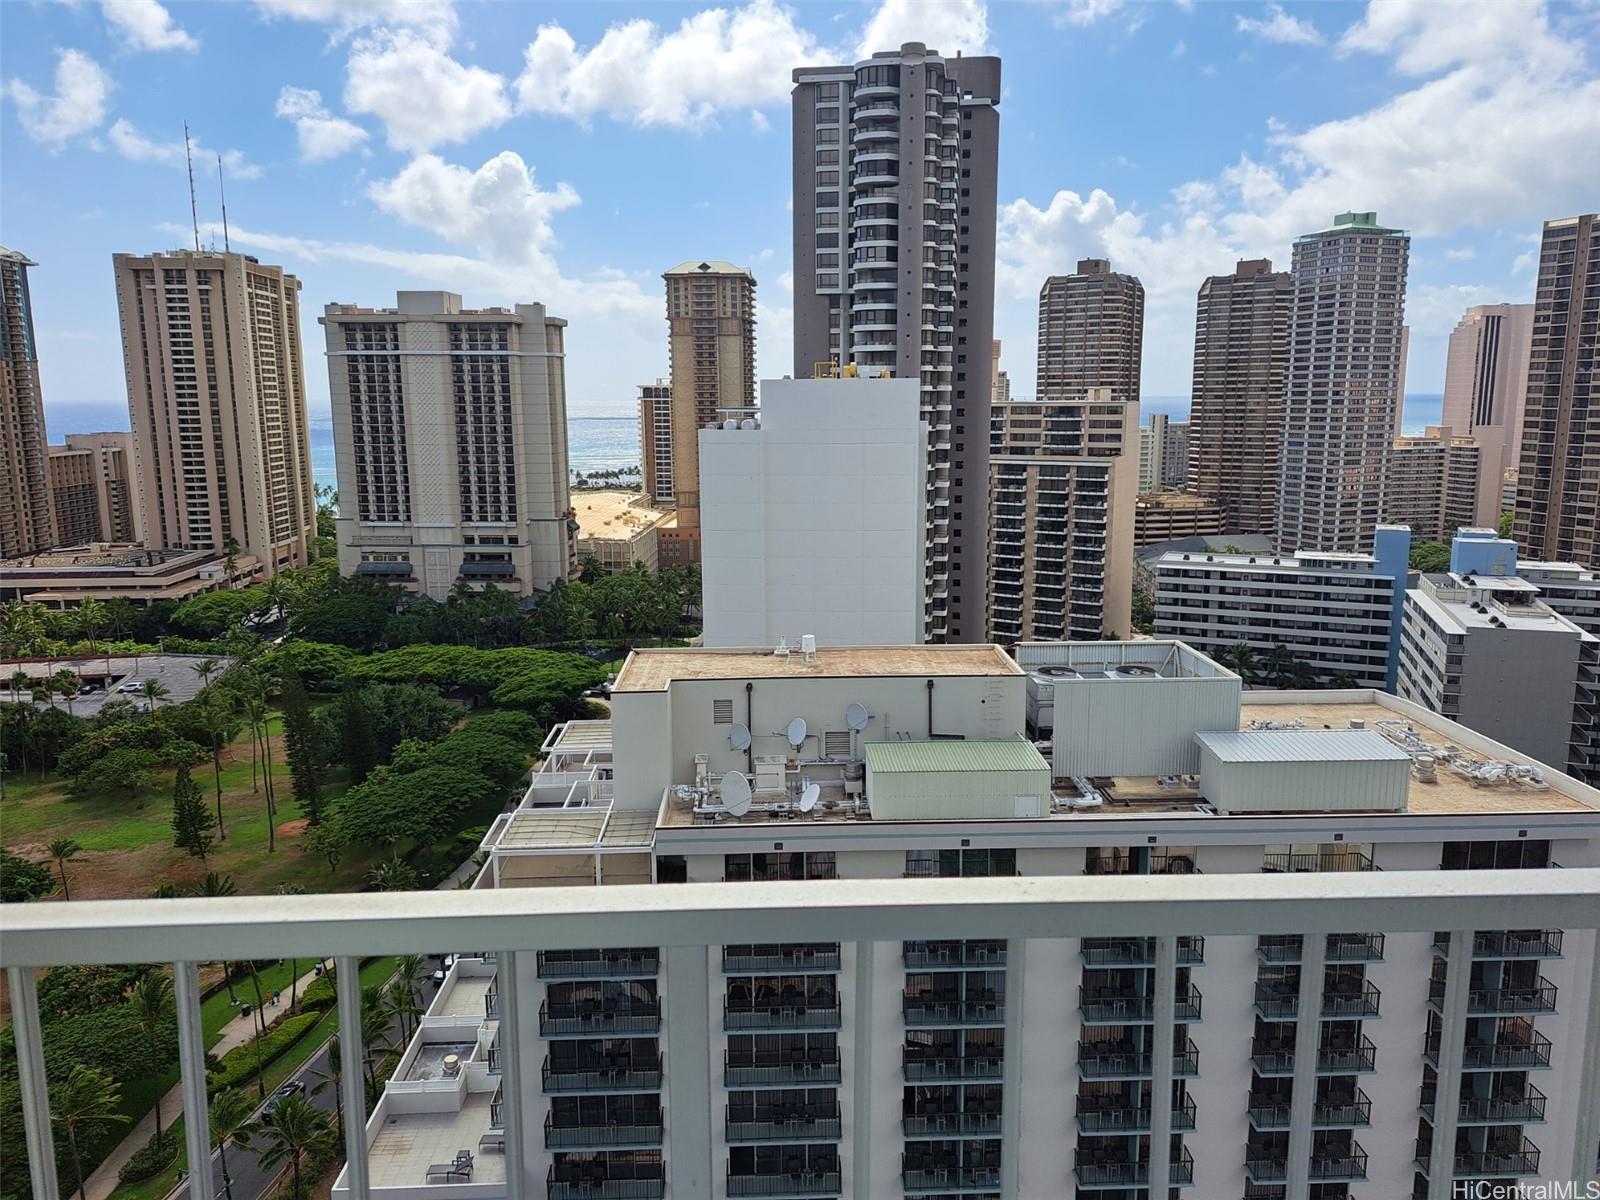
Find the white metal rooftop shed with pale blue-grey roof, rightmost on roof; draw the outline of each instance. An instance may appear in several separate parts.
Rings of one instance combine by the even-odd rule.
[[[1197,733],[1200,794],[1222,813],[1405,811],[1411,757],[1371,730]]]

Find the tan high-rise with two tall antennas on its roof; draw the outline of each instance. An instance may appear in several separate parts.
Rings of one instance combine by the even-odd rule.
[[[304,566],[317,531],[299,280],[248,254],[114,254],[144,538]]]

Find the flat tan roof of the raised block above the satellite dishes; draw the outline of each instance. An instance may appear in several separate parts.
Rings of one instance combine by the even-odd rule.
[[[798,646],[771,650],[635,650],[611,691],[664,691],[674,680],[829,678],[846,675],[1021,675],[1000,646],[822,646],[806,664]]]

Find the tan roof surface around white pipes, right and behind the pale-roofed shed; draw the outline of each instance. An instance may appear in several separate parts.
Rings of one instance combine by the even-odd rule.
[[[1445,747],[1454,746],[1453,734],[1446,733],[1448,722],[1438,728],[1424,718],[1408,717],[1403,712],[1386,709],[1381,704],[1250,704],[1250,693],[1245,693],[1245,704],[1240,709],[1238,728],[1248,730],[1250,722],[1267,720],[1280,725],[1294,720],[1306,722],[1307,730],[1347,730],[1352,720],[1366,722],[1368,730],[1378,728],[1378,722],[1402,722],[1411,725],[1418,736]],[[1477,762],[1490,762],[1491,757],[1472,747],[1459,747],[1467,757]],[[1515,750],[1506,762],[1531,762]],[[1568,779],[1554,766],[1541,768],[1546,779]],[[1582,813],[1594,811],[1589,805],[1570,795],[1563,795],[1555,787],[1533,790],[1517,784],[1498,784],[1474,787],[1472,782],[1453,771],[1445,763],[1437,768],[1438,782],[1424,784],[1416,776],[1411,778],[1411,790],[1406,797],[1410,813]]]

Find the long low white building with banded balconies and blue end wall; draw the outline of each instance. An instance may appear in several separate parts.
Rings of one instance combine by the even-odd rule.
[[[1394,690],[1411,536],[1379,526],[1374,554],[1179,550],[1155,565],[1155,635],[1206,654],[1277,646],[1322,683]]]

